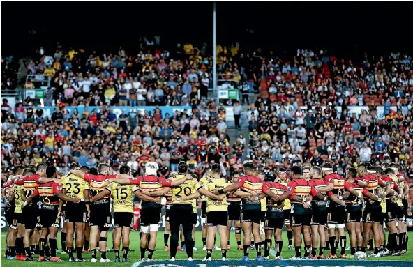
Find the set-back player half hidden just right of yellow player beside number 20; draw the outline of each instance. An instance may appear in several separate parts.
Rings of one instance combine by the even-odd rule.
[[[232,183],[235,183],[236,180],[241,177],[240,171],[234,171],[232,173]],[[236,196],[234,192],[227,194],[227,204],[228,204],[228,226],[227,226],[227,250],[230,250],[230,233],[232,228],[232,223],[235,226],[235,238],[236,238],[236,245],[239,250],[242,250],[243,247],[241,245],[241,197]]]

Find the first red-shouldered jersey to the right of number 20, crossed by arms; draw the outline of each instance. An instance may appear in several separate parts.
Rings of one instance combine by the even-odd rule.
[[[269,190],[268,185],[257,176],[241,176],[236,182],[240,186],[240,190],[244,192],[266,192]],[[261,201],[251,201],[250,199],[241,199],[243,210],[261,210]]]

